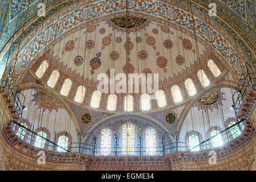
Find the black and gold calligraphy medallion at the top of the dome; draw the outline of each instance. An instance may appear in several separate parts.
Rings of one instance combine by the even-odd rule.
[[[135,32],[144,29],[149,25],[149,23],[151,23],[151,21],[132,15],[129,15],[128,18],[126,18],[124,15],[117,18],[109,18],[107,23],[117,31],[126,32],[128,28],[129,32]]]

